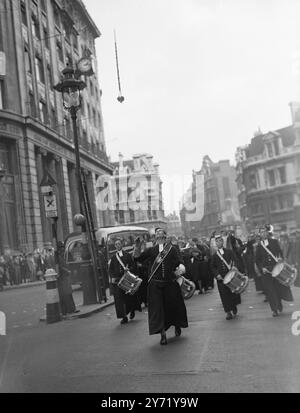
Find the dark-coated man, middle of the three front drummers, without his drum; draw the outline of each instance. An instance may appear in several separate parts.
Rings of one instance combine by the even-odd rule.
[[[235,264],[231,250],[224,248],[222,235],[215,235],[217,251],[212,256],[211,270],[217,280],[221,302],[226,313],[226,320],[232,320],[237,315],[237,305],[241,304],[240,294],[231,292],[224,283],[225,275]]]

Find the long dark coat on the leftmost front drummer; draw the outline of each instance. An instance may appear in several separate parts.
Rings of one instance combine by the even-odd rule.
[[[121,260],[125,266],[128,267],[130,272],[136,272],[136,266],[133,258],[130,254],[123,251],[123,257]],[[124,275],[124,269],[119,263],[116,254],[112,256],[108,267],[109,276],[112,279],[112,293],[114,295],[115,309],[117,318],[124,318],[131,311],[141,311],[141,306],[138,301],[137,294],[130,295],[126,294],[120,287],[118,287],[118,282]]]

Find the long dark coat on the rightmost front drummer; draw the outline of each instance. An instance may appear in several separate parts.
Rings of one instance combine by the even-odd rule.
[[[268,250],[270,250],[276,258],[283,258],[279,242],[272,238],[268,241]],[[276,261],[270,256],[270,254],[268,254],[261,244],[258,245],[256,249],[256,264],[262,274],[263,268],[266,268],[269,272],[272,272],[276,265]],[[272,311],[282,309],[281,300],[294,301],[290,287],[280,284],[279,281],[272,277],[271,274],[263,274],[262,282]]]

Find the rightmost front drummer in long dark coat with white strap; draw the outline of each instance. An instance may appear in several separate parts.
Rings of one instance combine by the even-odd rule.
[[[275,265],[283,261],[279,242],[270,236],[269,226],[260,228],[261,241],[256,250],[256,265],[262,273],[262,283],[269,301],[273,317],[282,312],[282,301],[294,301],[290,287],[280,284],[272,276]]]

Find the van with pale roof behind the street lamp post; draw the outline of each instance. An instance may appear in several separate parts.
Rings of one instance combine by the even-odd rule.
[[[107,271],[110,258],[116,252],[115,241],[117,238],[123,240],[124,250],[132,253],[135,239],[139,237],[146,244],[150,242],[150,232],[147,228],[136,226],[116,226],[100,228],[96,231],[96,238],[102,257],[102,266]],[[148,244],[150,246],[150,244]],[[65,264],[71,272],[72,284],[82,282],[80,275],[81,258],[81,233],[74,232],[65,240]]]

